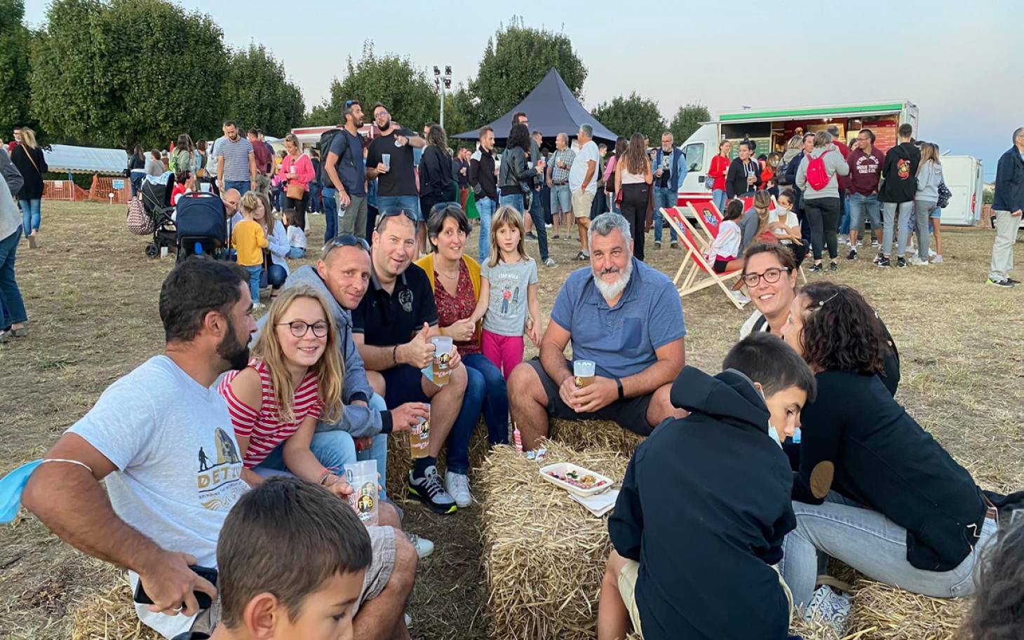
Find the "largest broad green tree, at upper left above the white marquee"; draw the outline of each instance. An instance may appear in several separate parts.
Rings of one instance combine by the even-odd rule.
[[[163,146],[218,129],[228,56],[209,15],[166,0],[54,0],[32,61],[32,115],[57,139]]]

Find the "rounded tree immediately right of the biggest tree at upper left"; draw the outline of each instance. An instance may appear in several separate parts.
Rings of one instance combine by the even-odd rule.
[[[279,137],[299,126],[305,112],[302,92],[285,77],[285,66],[255,43],[231,54],[222,99],[226,118]]]

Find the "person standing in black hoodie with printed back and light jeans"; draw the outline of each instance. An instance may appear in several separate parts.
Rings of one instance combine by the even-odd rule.
[[[882,184],[879,186],[879,201],[882,203],[882,247],[874,264],[891,266],[889,250],[893,246],[893,229],[897,221],[902,224],[906,216],[913,214],[913,197],[918,193],[918,165],[921,164],[921,150],[911,136],[913,127],[899,126],[899,144],[886,152],[882,166]],[[898,214],[897,215],[897,210]],[[896,266],[906,266],[903,256],[898,256]]]

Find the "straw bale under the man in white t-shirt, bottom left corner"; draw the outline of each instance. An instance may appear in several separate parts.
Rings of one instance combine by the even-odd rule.
[[[162,640],[135,615],[126,573],[122,573],[113,588],[87,596],[79,603],[73,613],[71,637],[72,640]]]

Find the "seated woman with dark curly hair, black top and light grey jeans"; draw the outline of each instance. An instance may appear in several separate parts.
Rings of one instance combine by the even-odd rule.
[[[818,552],[912,593],[971,595],[975,562],[995,540],[994,509],[886,389],[874,309],[849,287],[815,283],[794,299],[782,333],[818,384],[803,411],[797,528],[783,546],[794,602],[827,611],[840,597],[814,591]]]

